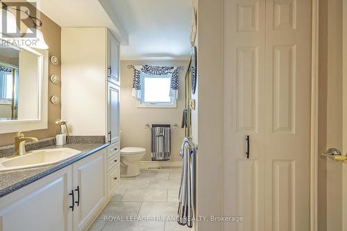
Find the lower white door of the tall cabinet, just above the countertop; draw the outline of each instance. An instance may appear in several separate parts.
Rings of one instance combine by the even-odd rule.
[[[108,142],[119,142],[119,86],[108,82]]]

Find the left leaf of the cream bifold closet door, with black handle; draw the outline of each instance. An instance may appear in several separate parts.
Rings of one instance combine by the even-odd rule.
[[[224,230],[264,230],[264,32],[265,0],[224,1]]]

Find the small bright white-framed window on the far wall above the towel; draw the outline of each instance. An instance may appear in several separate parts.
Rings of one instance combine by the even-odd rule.
[[[141,74],[139,108],[176,108],[176,99],[170,97],[171,74]]]

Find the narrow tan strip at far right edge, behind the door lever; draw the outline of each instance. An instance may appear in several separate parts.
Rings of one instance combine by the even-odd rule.
[[[342,0],[319,1],[319,153],[342,145]],[[319,231],[342,230],[342,165],[318,160]]]

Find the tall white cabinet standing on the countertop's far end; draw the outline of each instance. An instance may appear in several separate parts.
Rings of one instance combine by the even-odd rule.
[[[119,42],[107,28],[62,28],[62,119],[71,135],[119,142]]]

